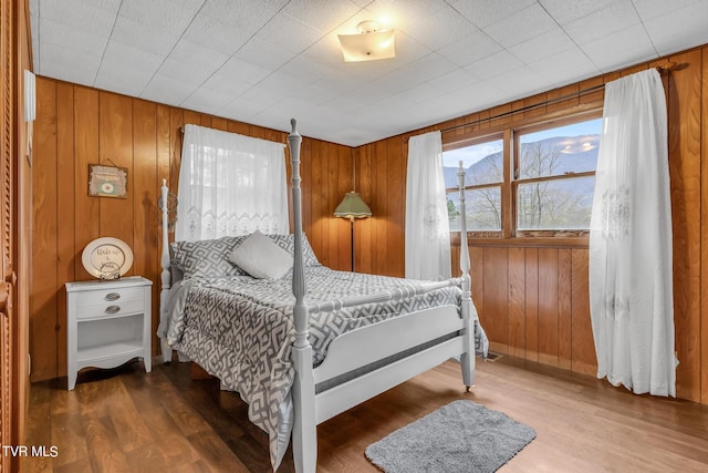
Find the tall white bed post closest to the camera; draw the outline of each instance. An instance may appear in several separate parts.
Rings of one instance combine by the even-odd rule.
[[[292,449],[295,471],[314,472],[317,463],[317,428],[314,412],[314,377],[312,373],[312,347],[309,340],[310,312],[304,302],[308,287],[305,284],[302,245],[302,192],[300,188],[300,144],[298,121],[290,121],[292,132],[288,135],[290,162],[292,165],[292,208],[294,224],[294,258],[292,270],[292,292],[295,296],[293,317],[295,341],[292,360],[295,366],[295,379],[292,385],[294,422]]]

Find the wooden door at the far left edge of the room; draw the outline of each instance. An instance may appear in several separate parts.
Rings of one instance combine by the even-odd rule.
[[[21,445],[24,439],[28,376],[29,286],[23,279],[28,247],[19,247],[18,222],[30,209],[18,199],[18,189],[29,193],[31,163],[24,125],[22,74],[30,69],[31,53],[27,0],[0,0],[0,445]],[[21,230],[29,237],[29,229]],[[18,264],[20,263],[20,264]],[[21,271],[20,271],[21,270]],[[19,290],[19,291],[18,291]],[[0,473],[19,471],[19,459],[0,452]]]

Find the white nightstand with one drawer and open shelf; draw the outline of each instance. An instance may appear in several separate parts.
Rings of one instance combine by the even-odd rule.
[[[82,368],[115,368],[142,357],[150,372],[150,287],[140,276],[66,282],[69,390]]]

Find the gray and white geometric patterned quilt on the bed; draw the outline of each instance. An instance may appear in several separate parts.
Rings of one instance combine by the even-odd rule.
[[[352,295],[381,292],[391,287],[420,282],[386,276],[308,267],[306,302],[325,302]],[[189,278],[174,288],[169,320],[158,333],[189,356],[222,387],[238,391],[249,404],[249,419],[270,436],[271,463],[277,469],[290,440],[294,367],[292,281],[236,276]],[[181,294],[181,297],[179,296]],[[457,305],[457,287],[437,289],[402,301],[369,304],[310,317],[313,363],[324,359],[330,342],[345,331],[402,313]],[[476,328],[478,352],[486,357],[487,340]]]

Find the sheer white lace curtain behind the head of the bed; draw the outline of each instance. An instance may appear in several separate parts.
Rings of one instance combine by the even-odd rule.
[[[285,146],[186,125],[175,239],[289,233]]]

